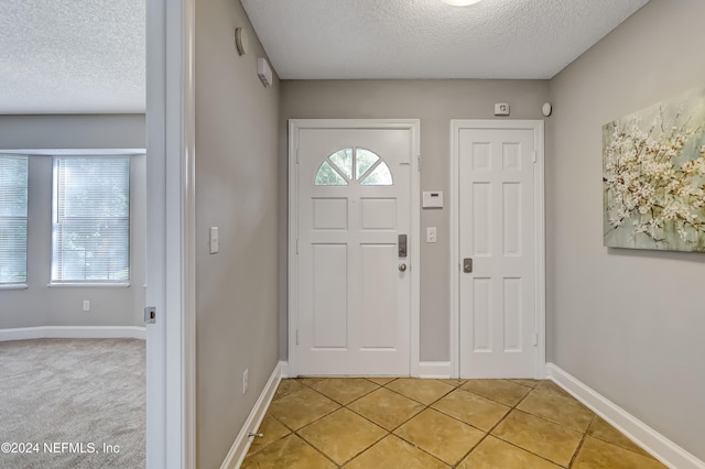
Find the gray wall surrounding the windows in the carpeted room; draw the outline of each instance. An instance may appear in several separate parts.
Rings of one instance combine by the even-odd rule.
[[[0,116],[0,150],[140,149],[143,114]],[[21,152],[18,152],[21,154]],[[30,156],[28,288],[0,290],[0,329],[36,326],[140,326],[144,306],[145,157],[131,164],[129,287],[48,287],[52,159]],[[90,310],[83,310],[83,301]]]

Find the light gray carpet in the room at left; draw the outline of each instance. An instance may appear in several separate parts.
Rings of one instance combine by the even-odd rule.
[[[0,468],[143,468],[145,347],[0,342]]]

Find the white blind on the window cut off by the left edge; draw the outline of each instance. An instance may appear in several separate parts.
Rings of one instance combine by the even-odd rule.
[[[0,155],[0,284],[26,283],[28,157]]]

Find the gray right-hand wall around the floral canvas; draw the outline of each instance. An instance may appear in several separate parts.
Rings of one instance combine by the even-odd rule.
[[[705,254],[603,247],[601,126],[705,84],[705,2],[652,0],[551,80],[551,359],[705,459]]]

